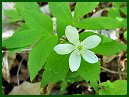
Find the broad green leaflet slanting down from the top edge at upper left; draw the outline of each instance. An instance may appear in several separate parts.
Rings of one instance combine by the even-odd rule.
[[[43,34],[50,34],[53,31],[52,19],[42,13],[37,3],[20,2],[16,3],[16,9],[23,17],[29,28],[41,30]]]

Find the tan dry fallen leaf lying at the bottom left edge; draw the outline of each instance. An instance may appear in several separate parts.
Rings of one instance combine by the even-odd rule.
[[[9,95],[40,95],[40,82],[30,83],[25,81],[14,87]]]

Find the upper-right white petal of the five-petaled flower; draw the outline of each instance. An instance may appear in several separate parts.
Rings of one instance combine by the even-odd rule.
[[[97,35],[87,37],[83,43],[87,49],[96,47],[101,42],[101,38]]]

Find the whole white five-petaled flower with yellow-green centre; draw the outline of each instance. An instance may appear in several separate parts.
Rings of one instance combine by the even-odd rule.
[[[54,50],[57,54],[61,55],[71,53],[69,57],[69,67],[72,72],[79,69],[81,56],[89,63],[98,62],[98,57],[94,52],[88,49],[96,47],[101,42],[99,36],[92,35],[80,42],[77,29],[70,25],[66,27],[65,35],[71,44],[58,44],[54,47]]]

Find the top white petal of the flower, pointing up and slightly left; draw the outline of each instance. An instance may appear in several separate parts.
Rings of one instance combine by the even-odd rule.
[[[65,35],[70,43],[76,44],[79,41],[79,34],[75,27],[67,26],[65,29]]]

